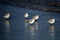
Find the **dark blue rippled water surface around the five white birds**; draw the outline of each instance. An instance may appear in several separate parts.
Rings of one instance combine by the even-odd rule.
[[[24,14],[29,13],[29,19],[34,15],[39,15],[38,30],[26,28]],[[9,19],[4,19],[3,15],[10,13]],[[56,19],[53,28],[50,28],[48,20]],[[35,26],[35,25],[33,25]],[[54,30],[54,32],[51,32]],[[0,40],[60,40],[60,13],[29,10],[20,7],[0,4]]]

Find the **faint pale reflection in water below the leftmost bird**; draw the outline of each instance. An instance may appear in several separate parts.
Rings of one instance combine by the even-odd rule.
[[[4,38],[5,40],[9,40],[10,35],[10,22],[9,20],[4,19]]]

